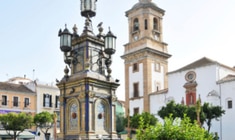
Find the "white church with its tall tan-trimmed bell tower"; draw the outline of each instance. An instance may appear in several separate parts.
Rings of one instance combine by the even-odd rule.
[[[203,57],[168,72],[168,45],[163,42],[165,11],[152,0],[139,0],[128,18],[129,42],[121,58],[125,65],[125,107],[127,115],[150,112],[156,117],[169,101],[193,105],[200,98],[225,110],[212,122],[211,132],[220,139],[234,140],[235,68]]]

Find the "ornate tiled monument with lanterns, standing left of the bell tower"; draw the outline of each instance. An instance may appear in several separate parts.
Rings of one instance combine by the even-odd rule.
[[[116,101],[115,90],[119,83],[111,78],[110,68],[112,55],[116,52],[116,36],[110,28],[107,34],[103,34],[102,22],[97,26],[99,33],[93,33],[91,18],[96,15],[96,2],[81,0],[85,26],[80,35],[76,26],[73,33],[66,25],[63,31],[59,30],[60,50],[69,66],[57,84],[61,91],[60,102],[63,103],[60,108],[63,126],[59,135],[62,139],[98,139],[97,135],[117,138],[113,102]],[[100,109],[105,110],[102,117],[98,113]],[[79,114],[71,116],[74,113]]]

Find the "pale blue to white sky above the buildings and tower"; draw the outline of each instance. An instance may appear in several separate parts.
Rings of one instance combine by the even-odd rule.
[[[163,40],[168,44],[168,70],[173,71],[202,57],[235,66],[234,0],[152,0],[164,9]],[[117,96],[125,100],[124,44],[128,43],[125,12],[138,0],[98,0],[96,25],[103,22],[117,36],[112,76],[120,80]],[[0,81],[12,77],[39,79],[55,84],[64,76],[65,64],[58,31],[74,24],[81,34],[84,17],[80,0],[4,0],[0,4]]]

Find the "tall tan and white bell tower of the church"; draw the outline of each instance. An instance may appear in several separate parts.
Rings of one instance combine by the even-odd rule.
[[[152,0],[139,0],[126,11],[129,42],[124,45],[126,112],[149,112],[149,94],[168,88],[167,44],[163,42],[165,11]]]

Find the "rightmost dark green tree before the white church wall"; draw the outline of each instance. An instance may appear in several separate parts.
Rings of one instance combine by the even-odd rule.
[[[207,131],[210,132],[211,128],[211,121],[213,119],[218,119],[221,117],[223,114],[225,114],[225,110],[222,110],[220,106],[212,106],[209,103],[204,103],[202,106],[202,111],[205,114],[205,122],[207,124]]]

